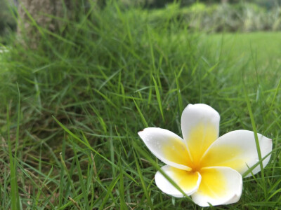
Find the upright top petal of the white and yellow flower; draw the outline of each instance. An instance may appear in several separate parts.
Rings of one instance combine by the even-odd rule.
[[[193,162],[218,139],[219,120],[218,112],[206,104],[189,104],[183,111],[181,130]]]

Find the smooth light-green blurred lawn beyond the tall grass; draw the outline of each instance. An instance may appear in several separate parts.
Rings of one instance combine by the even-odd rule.
[[[207,36],[211,48],[221,48],[221,55],[237,61],[255,62],[258,69],[280,67],[280,32],[252,32],[243,34],[213,34]],[[223,56],[223,57],[224,57]],[[224,59],[224,58],[222,58]]]

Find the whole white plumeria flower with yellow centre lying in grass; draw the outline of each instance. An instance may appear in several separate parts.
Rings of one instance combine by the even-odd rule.
[[[237,202],[242,193],[242,174],[259,162],[254,132],[235,130],[218,138],[219,120],[211,106],[189,104],[181,116],[183,139],[158,127],[138,132],[150,151],[166,164],[161,168],[164,174],[201,207]],[[261,134],[258,138],[264,158],[272,151],[272,141]],[[263,167],[269,159],[270,155],[264,158]],[[251,174],[260,170],[258,165]],[[166,194],[184,196],[161,172],[155,174],[155,182]]]

